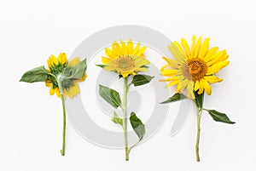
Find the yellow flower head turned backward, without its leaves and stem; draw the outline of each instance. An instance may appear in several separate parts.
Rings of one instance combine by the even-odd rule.
[[[63,73],[63,71],[67,69],[67,67],[76,66],[77,64],[79,64],[79,62],[79,57],[68,61],[67,55],[65,53],[59,54],[58,58],[51,54],[49,60],[47,60],[47,64],[49,67],[48,71],[53,76],[58,77],[61,73]],[[50,95],[56,94],[58,97],[61,97],[57,80],[53,76],[49,75],[48,79],[45,81],[45,85],[49,87]],[[68,97],[73,98],[76,94],[79,94],[80,88],[78,83],[84,82],[86,77],[86,74],[84,74],[81,79],[65,79],[64,77],[62,81],[64,98],[66,98],[67,95]]]

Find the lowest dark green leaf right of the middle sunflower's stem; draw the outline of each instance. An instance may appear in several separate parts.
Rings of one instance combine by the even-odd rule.
[[[146,132],[145,125],[142,123],[142,121],[136,116],[135,112],[133,111],[131,112],[130,123],[131,123],[131,127],[137,134],[139,140],[142,140]]]

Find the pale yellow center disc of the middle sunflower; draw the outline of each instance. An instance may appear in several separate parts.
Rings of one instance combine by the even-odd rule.
[[[119,68],[124,71],[130,71],[135,67],[134,59],[128,54],[119,56],[116,62]]]

